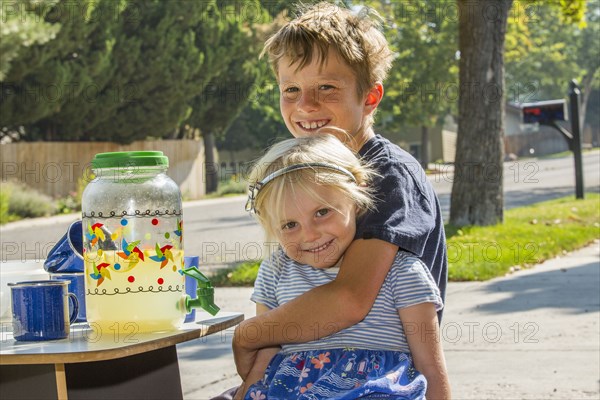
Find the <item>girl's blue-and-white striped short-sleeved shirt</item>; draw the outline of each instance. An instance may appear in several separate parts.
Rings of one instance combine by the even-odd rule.
[[[272,309],[314,287],[331,282],[338,270],[339,268],[318,269],[299,264],[279,250],[261,264],[251,299]],[[285,353],[338,348],[409,353],[398,310],[421,303],[434,303],[436,310],[443,307],[439,289],[429,269],[417,257],[400,250],[365,319],[322,339],[285,344],[282,349]],[[332,321],[325,326],[312,327],[315,338],[333,332],[335,324]],[[284,328],[284,335],[293,341],[295,337],[299,338],[300,329],[300,324],[291,324]]]

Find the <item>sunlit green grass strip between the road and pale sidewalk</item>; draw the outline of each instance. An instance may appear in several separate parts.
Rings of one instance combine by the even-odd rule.
[[[566,197],[511,209],[504,223],[446,226],[449,280],[485,281],[528,268],[600,238],[600,195]],[[215,286],[250,286],[259,262],[217,272]]]

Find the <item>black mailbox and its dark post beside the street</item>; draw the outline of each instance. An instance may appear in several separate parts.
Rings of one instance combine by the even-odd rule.
[[[560,126],[557,121],[566,121],[566,103],[564,100],[547,100],[521,105],[523,123],[547,125],[557,129],[567,141],[575,161],[575,198],[583,199],[583,161],[581,157],[581,134],[579,127],[579,97],[581,92],[577,82],[569,84],[569,103],[571,108],[571,132]]]

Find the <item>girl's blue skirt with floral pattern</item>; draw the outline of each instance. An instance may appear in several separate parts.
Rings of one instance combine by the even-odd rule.
[[[426,389],[407,353],[332,349],[277,354],[245,398],[424,399]]]

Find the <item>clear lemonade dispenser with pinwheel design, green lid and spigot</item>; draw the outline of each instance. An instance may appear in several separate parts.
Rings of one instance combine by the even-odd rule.
[[[181,193],[167,168],[161,151],[92,161],[82,229],[87,319],[98,333],[172,330],[192,306],[218,311],[208,279],[184,271]],[[186,297],[184,273],[198,280],[203,301]]]

